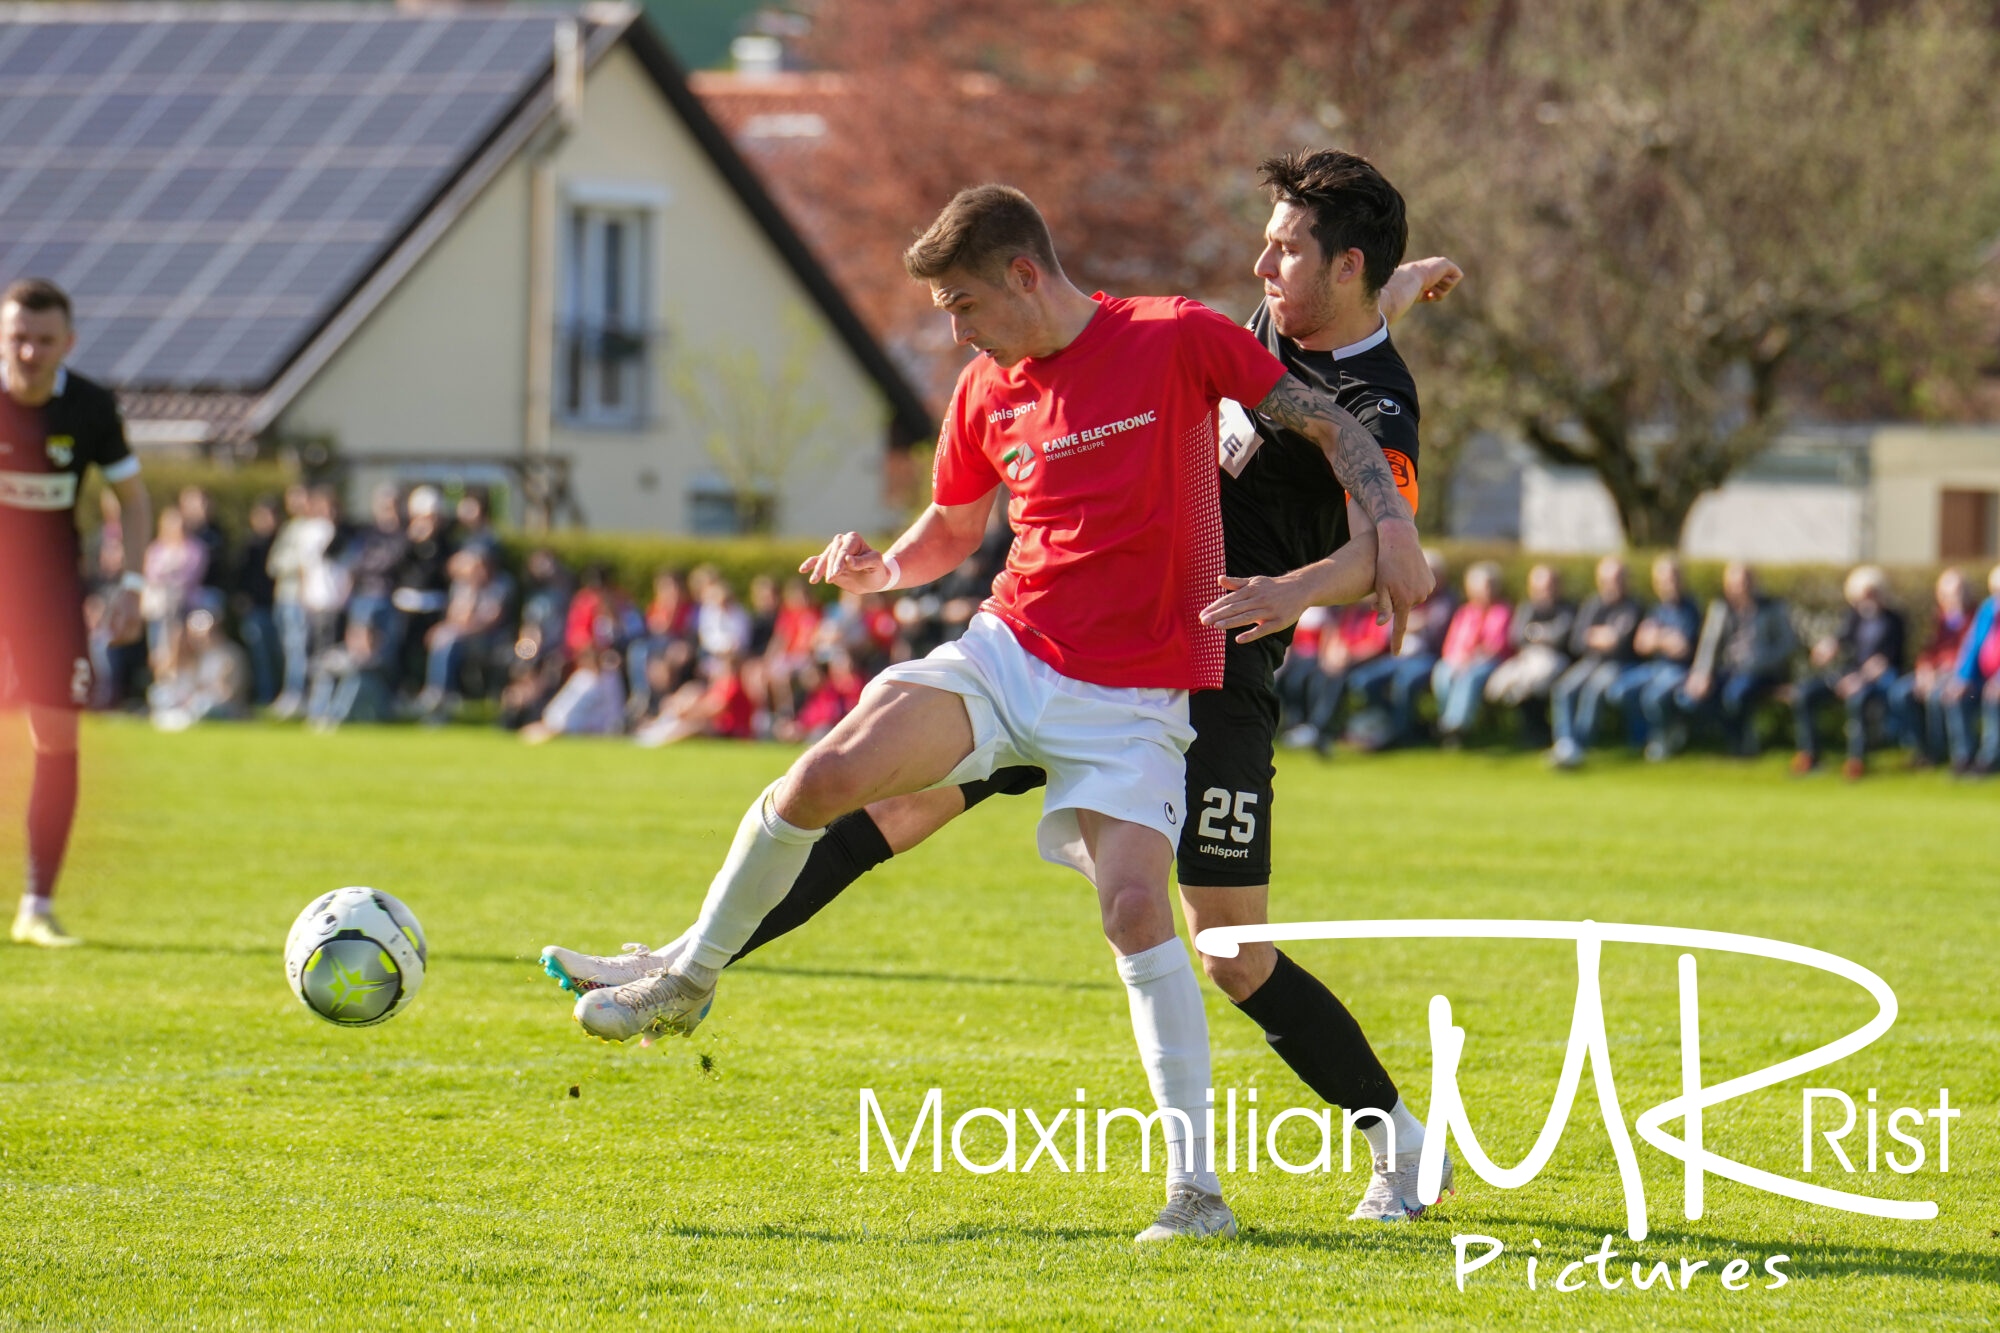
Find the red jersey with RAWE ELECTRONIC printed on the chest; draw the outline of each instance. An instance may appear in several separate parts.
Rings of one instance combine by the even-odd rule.
[[[1096,294],[1054,356],[958,376],[938,436],[938,504],[1006,484],[1014,546],[984,608],[1088,685],[1222,685],[1216,404],[1258,404],[1286,370],[1234,320],[1180,296]]]

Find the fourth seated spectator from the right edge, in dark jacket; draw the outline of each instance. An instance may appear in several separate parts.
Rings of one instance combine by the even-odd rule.
[[[1730,755],[1756,755],[1756,709],[1790,675],[1792,616],[1776,596],[1756,588],[1756,572],[1742,562],[1722,570],[1722,596],[1708,604],[1702,640],[1694,646],[1688,681],[1674,691],[1674,715],[1662,759],[1678,749],[1692,719],[1712,715],[1722,725]],[[1648,757],[1650,751],[1648,751]]]

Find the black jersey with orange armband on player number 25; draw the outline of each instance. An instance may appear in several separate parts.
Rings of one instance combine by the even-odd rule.
[[[1250,332],[1306,384],[1334,396],[1374,434],[1396,476],[1396,486],[1416,508],[1416,380],[1402,364],[1388,324],[1374,336],[1332,352],[1312,352],[1282,336],[1266,306],[1250,318]],[[1222,546],[1228,572],[1238,578],[1284,574],[1324,560],[1348,540],[1346,490],[1334,480],[1326,454],[1310,438],[1270,424],[1244,404],[1246,422],[1222,426]],[[1254,430],[1254,438],[1250,436]],[[1230,630],[1224,687],[1268,687],[1292,630],[1254,642],[1236,642]]]

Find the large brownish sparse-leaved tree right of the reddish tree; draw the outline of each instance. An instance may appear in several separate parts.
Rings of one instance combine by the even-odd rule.
[[[1774,440],[1788,384],[1922,410],[1926,374],[1976,360],[1940,314],[2000,230],[1994,56],[1962,4],[1568,0],[1456,28],[1362,108],[1420,244],[1470,274],[1416,322],[1432,400],[1462,382],[1592,468],[1640,546]]]

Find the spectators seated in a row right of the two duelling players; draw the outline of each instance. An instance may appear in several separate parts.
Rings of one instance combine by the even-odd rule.
[[[1432,572],[1438,590],[1394,654],[1372,604],[1306,612],[1278,673],[1286,745],[1458,747],[1484,727],[1546,747],[1558,769],[1604,745],[1666,761],[1706,739],[1748,757],[1760,723],[1782,709],[1800,775],[1834,741],[1848,779],[1884,749],[1906,751],[1912,767],[2000,771],[2000,566],[1984,600],[1944,570],[1918,624],[1880,568],[1856,566],[1838,622],[1804,644],[1794,608],[1764,594],[1748,564],[1724,570],[1706,608],[1674,556],[1652,562],[1650,602],[1620,556],[1598,562],[1580,602],[1548,564],[1528,570],[1520,602],[1506,600],[1498,564],[1472,564],[1462,594],[1436,556]]]

